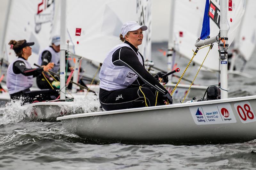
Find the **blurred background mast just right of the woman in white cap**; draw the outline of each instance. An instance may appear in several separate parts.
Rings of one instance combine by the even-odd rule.
[[[168,39],[168,51],[167,51],[167,70],[168,72],[172,71],[172,67],[175,61],[175,51],[174,51],[174,41],[173,41],[173,24],[174,24],[174,7],[175,0],[171,1],[171,18],[170,18],[170,29],[169,29],[169,39]],[[172,75],[171,75],[172,81]]]

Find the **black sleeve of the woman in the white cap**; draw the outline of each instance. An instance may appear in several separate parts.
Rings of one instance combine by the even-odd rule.
[[[112,57],[115,66],[126,66],[134,71],[151,88],[167,94],[168,91],[141,65],[136,53],[129,47],[116,50]]]

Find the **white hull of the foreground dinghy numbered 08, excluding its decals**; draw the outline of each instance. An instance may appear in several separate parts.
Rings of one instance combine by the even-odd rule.
[[[59,117],[57,120],[61,120],[63,127],[70,133],[99,143],[207,144],[246,142],[256,139],[256,122],[242,123],[238,117],[234,104],[239,102],[249,102],[255,115],[256,96],[251,96],[82,113]],[[236,122],[196,124],[190,112],[191,107],[216,107],[218,104],[230,104],[229,112],[233,112]]]

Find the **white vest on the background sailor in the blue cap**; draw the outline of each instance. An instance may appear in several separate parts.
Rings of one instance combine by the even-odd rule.
[[[47,47],[47,48],[44,49],[44,50],[40,53],[40,55],[39,55],[38,62],[37,62],[37,64],[38,64],[39,66],[41,66],[42,63],[43,63],[43,62],[42,62],[42,54],[43,54],[44,51],[49,51],[49,52],[51,53],[52,59],[51,59],[51,61],[49,61],[49,62],[53,62],[53,63],[54,63],[54,67],[52,68],[52,71],[53,71],[54,73],[57,73],[57,72],[59,71],[59,69],[60,69],[60,53],[54,51],[52,47]]]

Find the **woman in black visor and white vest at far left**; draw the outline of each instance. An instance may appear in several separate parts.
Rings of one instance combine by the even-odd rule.
[[[34,100],[52,100],[58,97],[58,92],[52,91],[30,91],[33,85],[33,77],[43,71],[52,69],[54,63],[49,63],[40,68],[31,68],[28,57],[31,55],[31,47],[34,42],[28,43],[26,40],[15,41],[11,40],[9,45],[15,51],[16,58],[7,69],[7,88],[12,100],[22,99],[24,103],[31,103]]]

